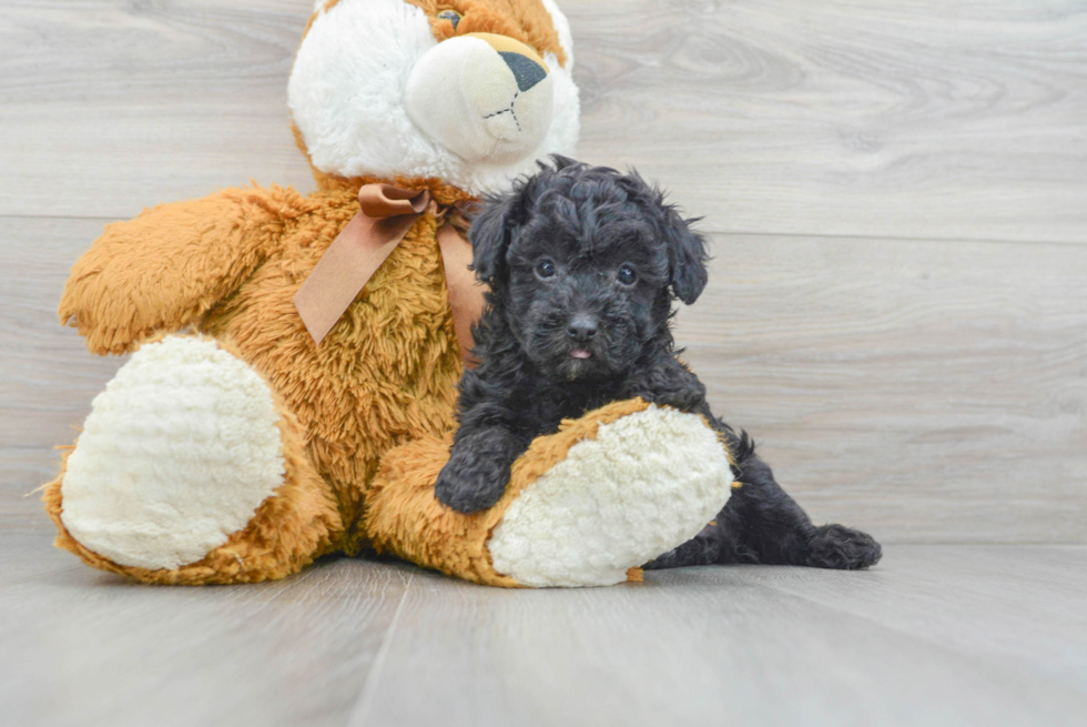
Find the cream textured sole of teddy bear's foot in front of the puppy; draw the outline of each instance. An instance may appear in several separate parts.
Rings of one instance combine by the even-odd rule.
[[[691,537],[720,512],[732,476],[697,415],[651,406],[573,445],[506,511],[495,569],[527,586],[607,586]]]

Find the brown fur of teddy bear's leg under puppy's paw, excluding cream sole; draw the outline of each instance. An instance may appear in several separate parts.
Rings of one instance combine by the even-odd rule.
[[[425,437],[389,452],[370,488],[366,518],[375,549],[428,565],[445,574],[490,586],[516,587],[495,571],[487,549],[491,532],[521,491],[566,458],[570,447],[592,440],[601,424],[644,411],[640,400],[616,402],[578,420],[562,422],[557,434],[536,438],[514,463],[506,494],[492,508],[471,515],[441,505],[434,496],[438,472],[449,458],[451,436]],[[632,569],[628,578],[637,580]]]

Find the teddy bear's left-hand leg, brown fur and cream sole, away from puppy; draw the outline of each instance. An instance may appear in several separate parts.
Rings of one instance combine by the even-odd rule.
[[[281,578],[343,529],[282,402],[228,346],[197,336],[132,355],[44,501],[58,546],[149,583]]]

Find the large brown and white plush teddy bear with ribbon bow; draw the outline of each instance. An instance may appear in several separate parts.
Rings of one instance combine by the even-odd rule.
[[[61,321],[131,357],[45,488],[58,545],[161,584],[380,552],[582,586],[698,533],[729,455],[641,400],[539,437],[488,511],[434,497],[481,305],[460,210],[572,152],[572,67],[552,0],[319,0],[289,80],[316,191],[153,208],[72,270]]]

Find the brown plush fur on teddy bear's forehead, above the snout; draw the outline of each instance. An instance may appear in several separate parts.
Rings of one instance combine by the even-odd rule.
[[[540,0],[405,0],[420,8],[430,19],[434,37],[441,42],[454,36],[465,33],[497,33],[508,36],[522,43],[531,46],[541,55],[555,53],[560,65],[566,65],[566,52],[559,43],[559,34],[555,30],[551,14]],[[325,3],[327,12],[341,0],[328,0]],[[456,10],[461,14],[456,30],[448,20],[437,16],[443,10]],[[306,33],[313,27],[317,13],[309,17]],[[303,34],[305,38],[305,34]]]

